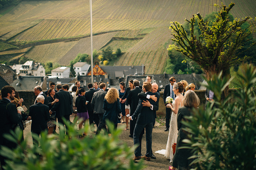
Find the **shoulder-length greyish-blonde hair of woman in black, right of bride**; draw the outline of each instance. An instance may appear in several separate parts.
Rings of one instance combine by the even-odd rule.
[[[196,108],[200,104],[200,99],[194,91],[188,90],[184,95],[183,105],[189,108]]]

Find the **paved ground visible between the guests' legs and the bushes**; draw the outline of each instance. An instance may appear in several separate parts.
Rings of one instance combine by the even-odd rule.
[[[159,118],[158,118],[159,119]],[[160,118],[161,119],[161,118]],[[73,117],[71,117],[71,121],[73,120]],[[160,120],[160,122],[163,122]],[[118,127],[125,128],[125,123],[120,123]],[[96,125],[95,125],[96,129]],[[165,126],[163,126],[163,123],[159,124],[158,122],[155,123],[155,127],[152,131],[152,150],[153,153],[157,150],[162,150],[166,148],[166,143],[168,139],[169,131],[164,131]],[[24,130],[24,137],[28,138],[28,142],[32,143],[32,137],[31,137],[31,125],[27,125],[27,127]],[[58,132],[58,128],[56,130]],[[124,142],[129,147],[133,147],[133,139],[129,137],[130,134],[130,127],[128,130],[123,130],[122,134],[120,135],[120,143]],[[145,134],[143,135],[142,139],[142,155],[145,155],[146,153],[146,140],[145,140]],[[168,167],[171,165],[169,163],[169,159],[166,159],[163,155],[159,155],[157,153],[154,153],[154,155],[157,157],[157,159],[151,159],[150,161],[145,160],[139,160],[144,162],[144,168],[143,170],[168,170]],[[129,160],[125,160],[124,163],[129,163]]]

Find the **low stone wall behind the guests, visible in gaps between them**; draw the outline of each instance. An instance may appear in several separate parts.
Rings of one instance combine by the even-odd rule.
[[[35,102],[35,94],[34,91],[18,91],[20,98],[24,99],[23,105],[25,105],[28,109],[29,106],[33,105]],[[236,92],[236,89],[230,89],[229,93],[232,96],[233,99],[233,94]],[[204,107],[205,105],[205,90],[196,90],[195,93],[198,95],[200,99],[200,107]],[[165,116],[166,115],[166,106],[164,105],[163,102],[163,92],[160,92],[160,100],[159,100],[159,109],[157,111],[157,116]]]

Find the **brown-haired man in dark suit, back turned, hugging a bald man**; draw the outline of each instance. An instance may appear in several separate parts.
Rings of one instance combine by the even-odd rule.
[[[143,83],[143,91],[145,92],[145,94],[148,95],[153,95],[153,93],[151,92],[151,83],[150,82],[144,82]],[[139,104],[136,108],[136,111],[134,112],[134,114],[132,116],[129,116],[130,120],[134,120],[137,118],[137,122],[134,128],[134,145],[135,144],[140,144],[139,147],[137,147],[134,151],[135,157],[134,157],[134,161],[139,160],[139,159],[145,159],[147,161],[150,161],[150,157],[151,157],[151,153],[152,153],[152,149],[151,149],[151,145],[152,145],[152,129],[153,129],[153,122],[155,121],[155,116],[154,116],[154,111],[152,107],[143,107],[142,104],[143,100],[140,99],[139,100]],[[150,102],[150,104],[153,105],[157,105],[157,103],[152,100],[152,99],[148,99],[148,102]],[[147,152],[145,156],[141,156],[141,142],[140,142],[140,136],[141,133],[143,131],[143,129],[145,128],[146,130],[146,148],[147,148]]]

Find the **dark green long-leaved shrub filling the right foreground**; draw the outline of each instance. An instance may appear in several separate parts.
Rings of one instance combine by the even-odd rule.
[[[186,139],[194,151],[193,163],[197,170],[255,170],[256,169],[256,69],[244,68],[238,74],[240,89],[231,97],[221,99],[230,80],[221,80],[221,75],[207,81],[207,88],[216,96],[215,106],[206,111],[198,109],[183,122],[186,130],[195,135]],[[198,155],[197,155],[198,153]]]

